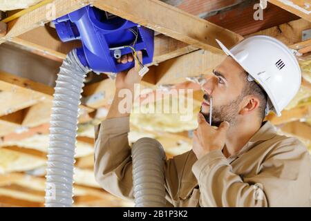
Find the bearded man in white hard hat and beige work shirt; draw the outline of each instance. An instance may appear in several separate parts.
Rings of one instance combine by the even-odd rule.
[[[296,59],[270,37],[245,39],[232,50],[218,43],[229,56],[202,84],[205,95],[193,148],[165,162],[167,206],[310,206],[307,149],[263,122],[268,111],[280,115],[299,89]],[[132,60],[126,56],[121,62]],[[123,88],[133,91],[139,81],[135,68],[117,75],[113,103],[95,135],[97,182],[129,199],[133,199],[129,114],[117,110],[121,100],[117,93]]]

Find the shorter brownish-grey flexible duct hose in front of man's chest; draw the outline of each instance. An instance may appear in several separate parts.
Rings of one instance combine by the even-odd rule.
[[[162,145],[151,138],[133,144],[133,189],[135,206],[165,206],[164,159]]]

